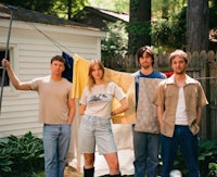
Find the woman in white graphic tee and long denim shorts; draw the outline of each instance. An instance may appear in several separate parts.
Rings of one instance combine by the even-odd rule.
[[[94,176],[95,144],[103,154],[110,168],[110,176],[120,177],[117,149],[112,132],[111,116],[128,109],[128,101],[122,89],[113,81],[104,79],[104,66],[101,61],[92,60],[88,71],[88,86],[80,98],[78,148],[85,157],[85,177]],[[113,98],[120,105],[112,110]]]

